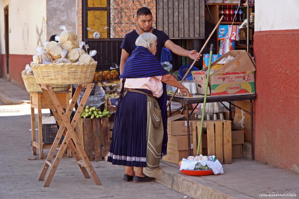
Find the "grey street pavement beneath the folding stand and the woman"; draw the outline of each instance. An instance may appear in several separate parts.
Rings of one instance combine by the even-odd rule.
[[[30,104],[0,106],[0,127],[0,198],[190,198],[158,182],[123,182],[124,167],[106,161],[91,162],[103,184],[97,186],[83,177],[75,158],[66,155],[50,186],[43,187],[38,177],[45,159],[32,155],[30,146]]]

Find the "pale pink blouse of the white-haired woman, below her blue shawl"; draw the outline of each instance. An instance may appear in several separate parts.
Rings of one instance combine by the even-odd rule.
[[[162,76],[126,79],[125,88],[147,89],[159,98],[163,94]]]

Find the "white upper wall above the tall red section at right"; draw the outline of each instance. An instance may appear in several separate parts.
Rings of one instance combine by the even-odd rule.
[[[254,31],[299,29],[298,0],[255,0]]]

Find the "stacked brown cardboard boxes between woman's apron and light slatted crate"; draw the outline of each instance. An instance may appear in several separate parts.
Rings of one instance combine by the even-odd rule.
[[[192,138],[192,121],[190,121],[190,149],[193,149]],[[163,156],[162,160],[179,164],[182,158],[188,157],[188,136],[187,136],[187,120],[184,115],[173,115],[168,118],[167,123],[168,143],[167,155]],[[203,136],[203,139],[206,136]],[[206,147],[206,141],[205,147]]]

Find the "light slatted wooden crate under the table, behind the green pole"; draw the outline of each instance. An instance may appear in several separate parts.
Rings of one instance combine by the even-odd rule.
[[[200,122],[193,122],[193,154],[197,152],[197,139],[200,132]],[[215,155],[222,164],[231,164],[231,121],[204,121],[203,128],[207,128],[208,155]],[[194,133],[197,132],[197,133]],[[202,153],[200,145],[199,154]]]

